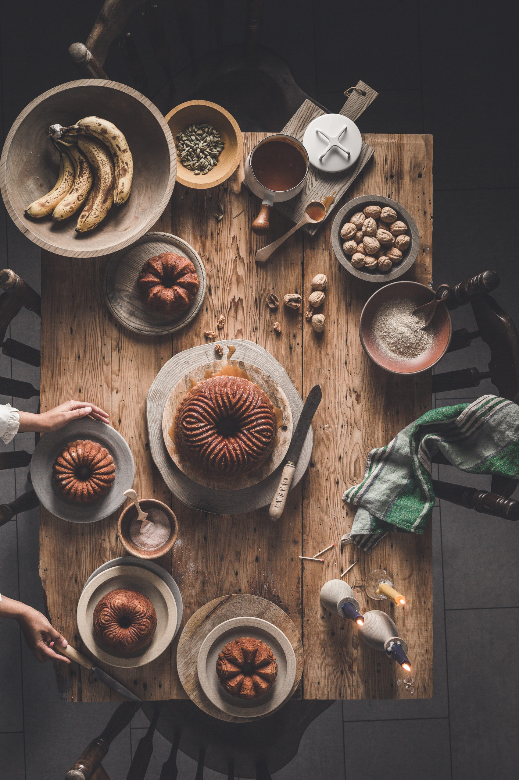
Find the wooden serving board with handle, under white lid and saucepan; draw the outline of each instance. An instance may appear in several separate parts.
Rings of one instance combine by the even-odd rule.
[[[365,95],[360,94],[357,90],[365,92]],[[355,87],[353,93],[343,105],[343,108],[340,109],[339,114],[347,116],[349,119],[355,121],[357,116],[360,116],[364,109],[368,108],[368,105],[371,105],[378,94],[379,93],[372,90],[371,87],[368,87],[368,84],[364,84],[364,81],[359,81],[357,87]],[[290,122],[283,127],[281,132],[286,133],[287,136],[293,136],[303,143],[304,131],[307,129],[307,126],[310,122],[313,122],[314,119],[317,119],[318,116],[324,114],[325,112],[322,111],[318,105],[315,105],[315,103],[312,103],[310,100],[305,100],[303,105],[300,106],[292,119],[290,119]],[[325,173],[323,171],[318,171],[317,168],[314,168],[314,166],[311,165],[307,180],[300,193],[292,198],[292,200],[285,200],[284,203],[275,203],[275,210],[291,219],[292,222],[299,222],[300,219],[303,218],[304,210],[311,200],[320,200],[322,197],[331,195],[335,191],[335,202],[328,207],[322,222],[318,222],[316,225],[304,225],[303,229],[313,236],[332,213],[340,198],[343,197],[343,194],[350,185],[354,183],[354,180],[357,179],[362,168],[364,168],[364,165],[371,159],[374,152],[375,149],[370,147],[363,140],[361,154],[359,155],[356,164],[346,171]]]

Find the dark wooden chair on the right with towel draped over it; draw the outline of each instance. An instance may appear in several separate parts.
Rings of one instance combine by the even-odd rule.
[[[480,338],[490,348],[489,370],[478,371],[472,367],[435,374],[432,378],[432,392],[478,387],[482,379],[489,378],[502,398],[519,403],[519,333],[511,317],[489,295],[498,285],[499,276],[494,271],[483,271],[450,288],[445,299],[447,307],[452,310],[470,303],[478,329],[473,332],[468,332],[466,328],[454,331],[448,351],[464,349],[474,339]],[[434,462],[450,465],[440,453],[435,456]],[[509,520],[519,519],[519,502],[510,498],[517,484],[519,480],[493,475],[490,491],[480,491],[432,480],[438,498]]]

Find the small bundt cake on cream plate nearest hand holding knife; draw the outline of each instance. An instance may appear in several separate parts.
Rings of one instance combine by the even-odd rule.
[[[155,607],[137,590],[110,590],[94,609],[98,640],[118,653],[142,650],[151,642],[156,628]]]

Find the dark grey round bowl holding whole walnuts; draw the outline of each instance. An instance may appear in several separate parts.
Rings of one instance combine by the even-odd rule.
[[[354,268],[351,264],[350,257],[344,254],[343,243],[344,239],[340,237],[340,231],[346,222],[350,221],[357,211],[363,211],[366,206],[390,206],[394,208],[398,218],[405,222],[409,228],[408,236],[411,238],[411,244],[405,252],[403,252],[403,258],[398,264],[393,264],[393,268],[389,273],[382,274],[380,271],[364,271],[362,268]],[[350,274],[357,276],[359,279],[364,279],[366,282],[393,282],[396,278],[405,274],[405,272],[411,268],[418,257],[418,250],[420,249],[420,234],[416,222],[411,217],[409,211],[403,206],[396,203],[396,200],[391,200],[389,197],[383,195],[361,195],[360,197],[350,200],[345,206],[343,206],[336,214],[336,218],[333,220],[332,225],[332,247],[336,254],[336,258]]]

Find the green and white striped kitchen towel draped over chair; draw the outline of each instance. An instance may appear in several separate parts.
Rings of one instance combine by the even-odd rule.
[[[371,551],[388,531],[422,534],[435,503],[438,451],[462,471],[519,478],[519,406],[496,395],[443,406],[371,450],[364,480],[343,495],[358,507],[343,541]]]

